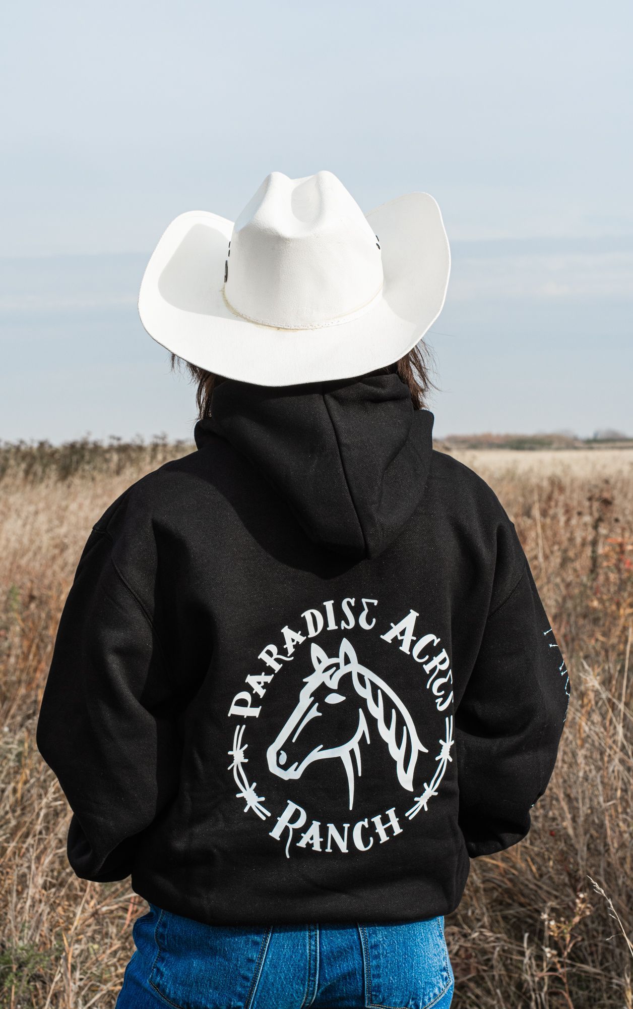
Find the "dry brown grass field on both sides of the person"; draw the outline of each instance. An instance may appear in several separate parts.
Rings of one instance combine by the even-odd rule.
[[[0,1006],[112,1009],[145,902],[79,880],[34,745],[59,612],[93,523],[192,448],[0,446]],[[515,523],[566,659],[560,754],[519,845],[471,863],[446,920],[457,1009],[633,1009],[633,450],[460,454]],[[81,760],[81,755],[78,755]]]

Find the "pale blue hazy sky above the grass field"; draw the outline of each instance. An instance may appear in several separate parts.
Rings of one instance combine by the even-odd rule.
[[[633,8],[21,0],[0,25],[0,439],[189,437],[144,332],[185,210],[271,171],[369,211],[431,193],[453,249],[435,433],[633,434]],[[7,101],[8,99],[8,101]]]

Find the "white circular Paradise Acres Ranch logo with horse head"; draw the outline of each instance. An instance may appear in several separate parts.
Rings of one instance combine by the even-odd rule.
[[[286,857],[290,857],[291,846],[313,852],[369,851],[376,840],[384,844],[401,833],[402,823],[411,820],[420,809],[426,810],[430,799],[437,794],[452,761],[454,745],[453,672],[440,639],[431,633],[418,634],[418,618],[419,613],[410,609],[401,620],[386,624],[381,634],[377,599],[363,598],[357,604],[355,598],[346,597],[340,605],[334,599],[327,600],[302,612],[302,623],[297,622],[295,629],[288,625],[281,629],[279,643],[268,644],[259,652],[262,671],[247,676],[247,689],[233,698],[229,716],[237,717],[238,721],[229,751],[233,758],[229,770],[239,789],[236,796],[244,800],[245,813],[252,812],[267,821],[271,837],[285,840]],[[348,637],[352,631],[356,646],[350,640],[352,635]],[[423,713],[427,737],[430,732],[434,738],[420,738],[411,710],[396,686],[388,682],[384,672],[379,675],[363,662],[364,652],[375,656],[377,642],[367,640],[367,647],[361,651],[365,644],[361,634],[363,638],[378,636],[386,643],[383,647],[392,649],[398,642],[399,650],[417,664],[411,667],[416,676],[413,696],[417,697],[419,690],[417,709]],[[310,644],[304,646],[306,642]],[[267,739],[266,693],[275,677],[286,675],[287,663],[294,663],[295,668],[303,671],[307,667],[307,674],[298,682],[286,676],[283,702],[284,712],[288,713]],[[394,668],[395,663],[387,663],[389,666]],[[410,696],[409,684],[407,697]],[[433,712],[441,713],[433,718]],[[265,767],[260,764],[257,773],[259,789],[257,781],[250,780],[253,768],[249,774],[247,767],[248,740],[255,726],[260,751],[261,739],[265,740],[266,764]],[[394,788],[396,794],[402,790],[403,805],[394,803],[373,816],[359,818],[361,813],[355,803],[363,756],[369,748],[382,748],[380,766],[385,767],[386,775],[392,775],[390,794]],[[418,768],[422,762],[421,774],[423,777],[426,771],[428,781],[420,778]],[[429,767],[432,774],[428,774]],[[314,773],[323,780],[324,787],[319,789],[322,801],[324,794],[336,792],[339,808],[342,793],[337,775],[341,775],[349,799],[345,822],[341,818],[329,821],[327,815],[324,818],[327,810],[306,808],[309,792],[306,799],[305,788],[302,792],[297,789],[300,790],[302,779],[308,775],[313,781]],[[261,782],[266,775],[287,784],[285,805],[274,808],[264,794],[258,794],[258,790],[264,791]],[[279,789],[274,791],[278,796]],[[295,801],[299,797],[301,801]],[[276,801],[278,804],[278,798]]]

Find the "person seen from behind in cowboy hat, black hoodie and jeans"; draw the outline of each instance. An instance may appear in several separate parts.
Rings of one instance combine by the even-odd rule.
[[[512,522],[432,448],[449,270],[431,197],[365,216],[326,172],[149,261],[197,451],[95,523],[37,726],[74,871],[148,902],[118,1009],[445,1009],[470,860],[529,830],[568,678]]]

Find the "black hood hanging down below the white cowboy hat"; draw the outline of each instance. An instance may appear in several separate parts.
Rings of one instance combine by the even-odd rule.
[[[194,429],[197,447],[226,438],[330,550],[377,556],[420,502],[433,415],[413,408],[395,371],[277,387],[226,378],[211,409]]]

